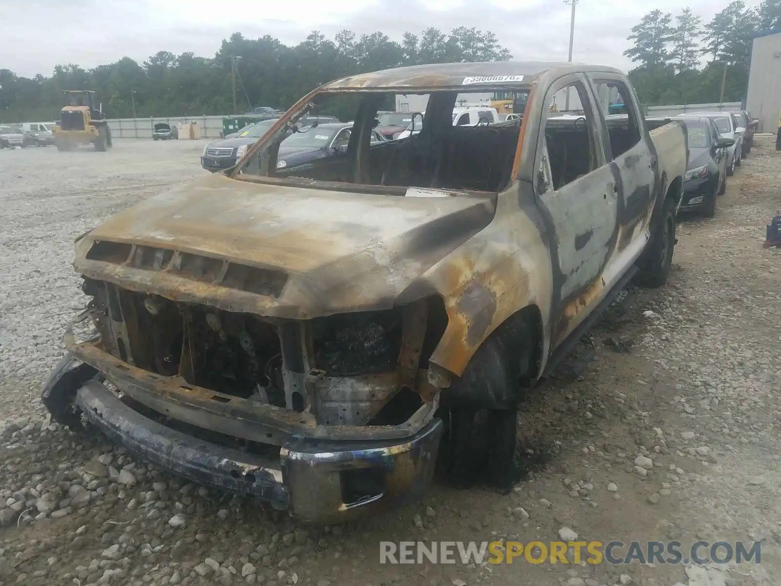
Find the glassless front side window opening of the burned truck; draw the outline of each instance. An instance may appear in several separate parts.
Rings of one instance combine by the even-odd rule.
[[[546,114],[543,157],[540,168],[540,187],[558,190],[566,184],[590,173],[599,166],[596,151],[596,120],[589,107],[583,84],[574,83],[561,91],[570,91],[570,106],[577,102],[578,110],[568,116]],[[549,96],[548,106],[553,104]],[[576,99],[572,99],[572,98]],[[549,109],[549,108],[548,108]],[[545,176],[549,180],[545,180]]]

